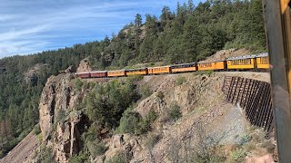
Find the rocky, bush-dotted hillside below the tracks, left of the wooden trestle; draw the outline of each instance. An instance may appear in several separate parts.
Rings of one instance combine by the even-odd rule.
[[[234,160],[236,157],[233,155],[241,149],[247,149],[238,157],[241,161],[247,157],[273,154],[273,141],[264,139],[264,132],[251,127],[239,108],[224,101],[221,86],[226,75],[237,76],[238,73],[194,72],[104,82],[101,85],[109,89],[109,99],[103,105],[98,104],[105,100],[98,98],[103,86],[84,80],[80,87],[76,84],[80,81],[70,74],[51,77],[39,106],[44,139],[34,159],[52,161],[55,158],[58,162],[115,162],[117,159],[126,162],[184,162],[198,160],[194,158],[197,153],[192,152],[203,152],[199,149],[202,145],[209,145],[205,152],[216,161]],[[268,73],[260,72],[240,72],[239,75],[264,81],[268,78]],[[135,91],[140,94],[138,99],[134,94],[127,94],[134,93],[127,92],[132,88],[131,82],[136,84]],[[124,111],[122,116],[115,114],[118,105],[125,105],[122,97],[114,99],[115,103],[119,103],[113,107],[117,107],[115,110],[107,112],[102,109],[109,105],[110,96],[118,94],[119,89],[126,92],[126,101],[135,101],[132,107],[127,105],[126,110],[119,108]],[[55,94],[52,94],[54,91]],[[105,94],[102,97],[105,98]],[[78,104],[80,101],[81,104]],[[91,107],[97,108],[92,112]],[[193,141],[195,139],[200,141]],[[241,144],[244,139],[247,143]],[[219,148],[213,151],[212,147],[216,144]]]

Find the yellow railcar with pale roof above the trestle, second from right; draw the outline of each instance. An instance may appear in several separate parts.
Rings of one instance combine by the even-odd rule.
[[[227,69],[255,69],[256,55],[228,58]]]

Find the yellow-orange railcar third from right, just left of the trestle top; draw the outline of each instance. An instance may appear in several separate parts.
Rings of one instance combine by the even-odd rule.
[[[198,71],[225,70],[226,61],[198,62],[197,66],[198,66]]]

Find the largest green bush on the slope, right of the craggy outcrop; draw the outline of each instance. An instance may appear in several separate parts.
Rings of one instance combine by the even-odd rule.
[[[89,120],[99,127],[115,129],[123,112],[140,97],[134,82],[117,80],[104,85],[97,84],[85,97],[85,112]]]

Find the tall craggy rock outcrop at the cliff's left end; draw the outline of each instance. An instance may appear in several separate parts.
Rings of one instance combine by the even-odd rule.
[[[76,91],[74,85],[70,73],[50,77],[39,104],[43,144],[53,146],[55,160],[59,162],[67,162],[70,156],[79,152],[80,135],[86,125],[84,113],[76,110],[85,91]]]

